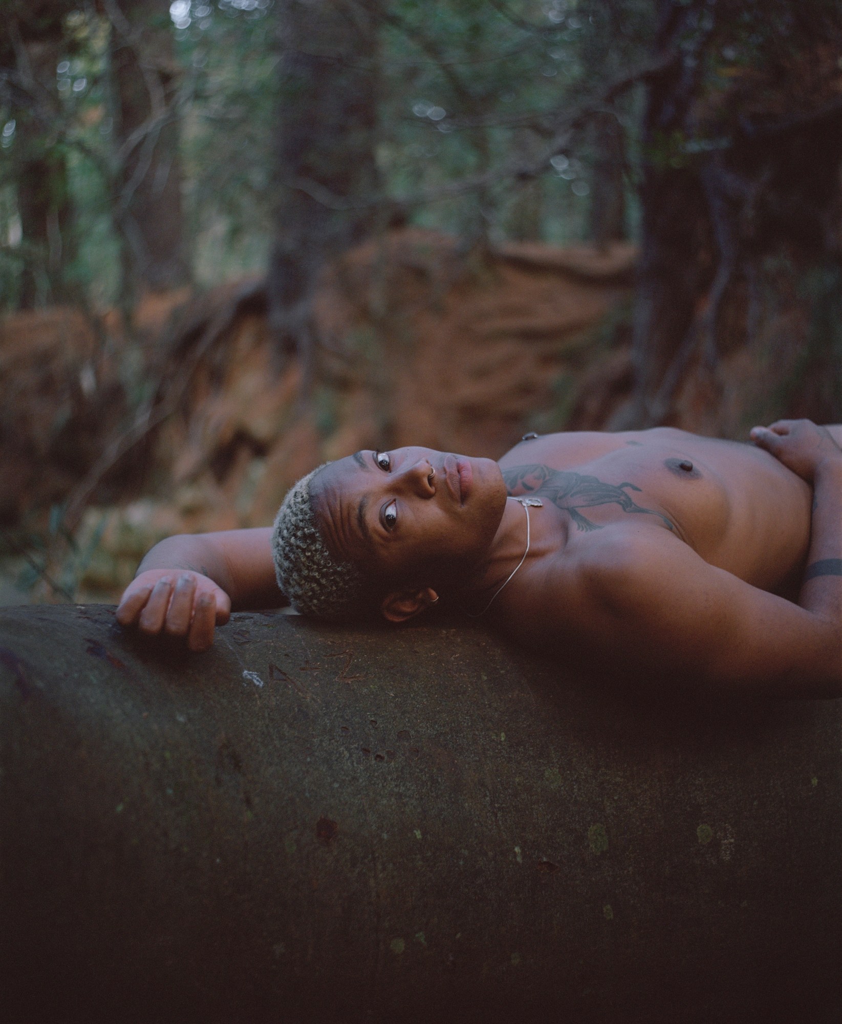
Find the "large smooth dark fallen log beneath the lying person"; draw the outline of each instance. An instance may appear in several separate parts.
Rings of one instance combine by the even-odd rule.
[[[837,1020],[839,701],[476,630],[0,615],[4,1020]],[[11,1008],[11,1014],[7,1011]]]

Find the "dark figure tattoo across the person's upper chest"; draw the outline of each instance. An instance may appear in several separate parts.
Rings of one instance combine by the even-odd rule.
[[[655,509],[645,509],[635,504],[627,490],[640,490],[633,483],[604,483],[597,476],[585,476],[564,469],[550,469],[549,466],[533,464],[529,466],[512,466],[503,470],[503,480],[506,490],[513,498],[520,495],[540,495],[551,501],[556,508],[570,513],[578,529],[600,529],[599,523],[591,522],[584,516],[581,509],[594,508],[597,505],[619,505],[624,512],[639,512],[643,515],[654,515],[671,530],[675,530],[672,522]]]

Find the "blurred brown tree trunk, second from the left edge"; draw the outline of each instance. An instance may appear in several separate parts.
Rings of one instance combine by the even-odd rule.
[[[190,281],[181,210],[177,90],[169,0],[104,0],[112,22],[118,216],[135,289]]]

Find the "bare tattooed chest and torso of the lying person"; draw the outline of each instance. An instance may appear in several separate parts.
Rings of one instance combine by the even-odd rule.
[[[746,444],[669,428],[548,434],[515,445],[500,467],[509,494],[537,494],[569,517],[569,545],[612,525],[667,529],[771,589],[809,543],[809,488]]]

